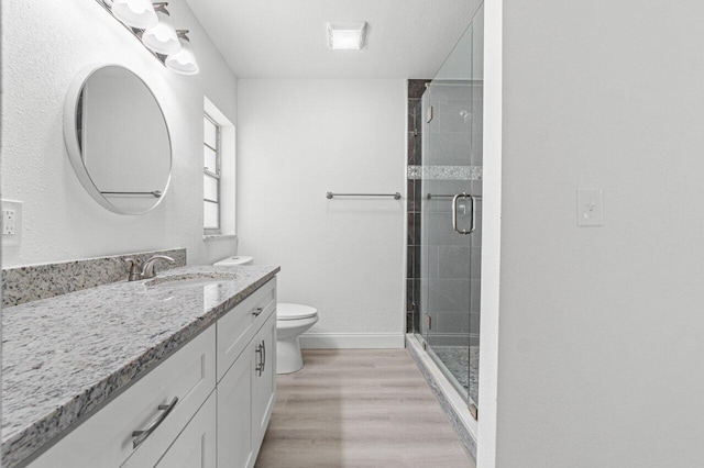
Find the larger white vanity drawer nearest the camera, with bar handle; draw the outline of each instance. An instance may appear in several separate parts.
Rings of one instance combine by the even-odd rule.
[[[198,335],[30,466],[143,468],[156,465],[215,389],[215,328],[211,326]],[[158,406],[168,405],[175,398],[178,401],[168,415],[134,448],[132,432],[150,426],[164,414]]]

